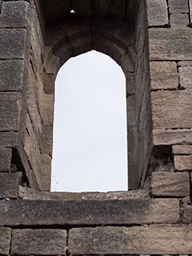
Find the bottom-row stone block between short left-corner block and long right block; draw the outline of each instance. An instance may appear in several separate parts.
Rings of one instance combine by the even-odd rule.
[[[13,230],[11,254],[65,255],[66,230]]]

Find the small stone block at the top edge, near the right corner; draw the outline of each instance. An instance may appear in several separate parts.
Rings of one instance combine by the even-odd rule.
[[[188,0],[169,0],[170,14],[187,14],[189,12]]]

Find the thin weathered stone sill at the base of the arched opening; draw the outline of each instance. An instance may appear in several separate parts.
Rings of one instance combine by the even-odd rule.
[[[145,199],[150,198],[147,190],[130,190],[117,192],[42,192],[19,186],[19,198],[27,200],[122,200],[122,199]]]

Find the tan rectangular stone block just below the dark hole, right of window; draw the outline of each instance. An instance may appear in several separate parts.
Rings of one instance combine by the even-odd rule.
[[[190,176],[182,173],[153,173],[150,181],[154,197],[190,196]]]

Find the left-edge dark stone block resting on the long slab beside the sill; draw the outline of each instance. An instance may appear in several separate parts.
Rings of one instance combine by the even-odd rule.
[[[0,198],[18,198],[22,173],[0,174]]]

